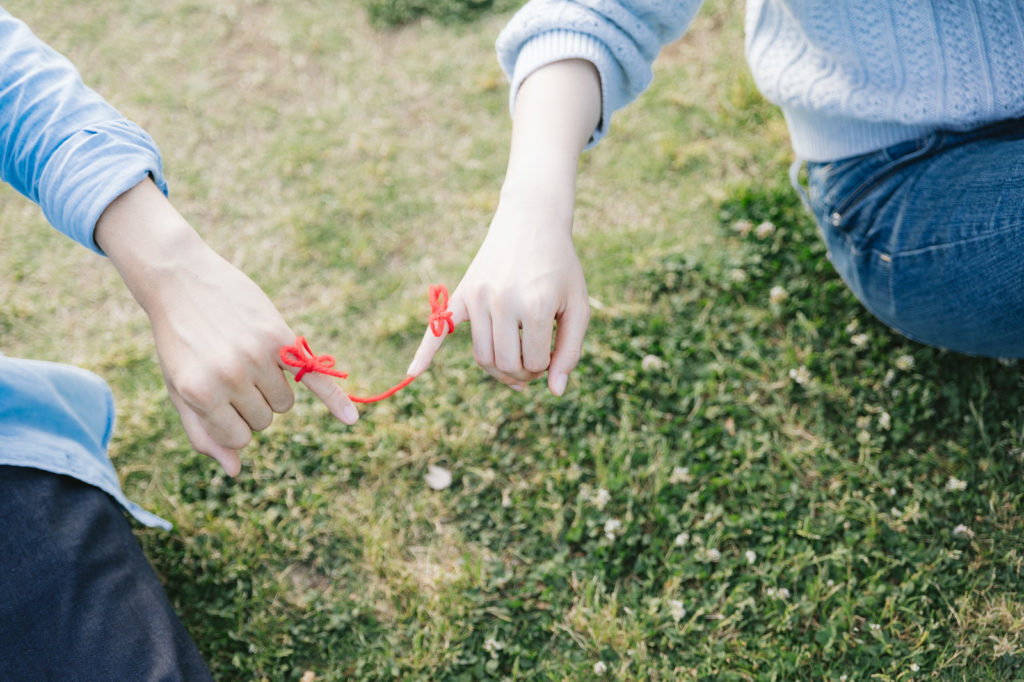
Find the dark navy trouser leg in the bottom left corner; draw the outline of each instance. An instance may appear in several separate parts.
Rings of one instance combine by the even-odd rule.
[[[210,680],[121,506],[0,466],[0,680]]]

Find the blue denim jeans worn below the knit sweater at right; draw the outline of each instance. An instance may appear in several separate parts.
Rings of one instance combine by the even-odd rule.
[[[1024,119],[807,165],[843,280],[932,346],[1024,356]]]

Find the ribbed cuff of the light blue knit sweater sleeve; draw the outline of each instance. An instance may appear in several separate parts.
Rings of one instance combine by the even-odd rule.
[[[608,131],[614,95],[623,91],[623,73],[608,49],[593,36],[572,31],[548,31],[523,44],[516,56],[509,91],[509,109],[515,113],[515,98],[522,82],[538,69],[565,59],[586,59],[594,65],[601,78],[601,120],[585,148],[597,144]],[[621,104],[620,104],[621,105]]]

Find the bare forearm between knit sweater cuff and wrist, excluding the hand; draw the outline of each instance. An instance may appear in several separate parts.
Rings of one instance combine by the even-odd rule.
[[[589,61],[556,61],[531,74],[516,96],[502,199],[571,211],[580,154],[600,117],[601,83]]]

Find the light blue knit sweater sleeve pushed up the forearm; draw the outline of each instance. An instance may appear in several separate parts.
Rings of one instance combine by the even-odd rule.
[[[541,67],[586,59],[601,77],[601,121],[593,146],[607,132],[611,114],[643,92],[662,47],[689,28],[702,0],[532,0],[498,36],[498,60],[512,83],[509,105],[522,82]]]

